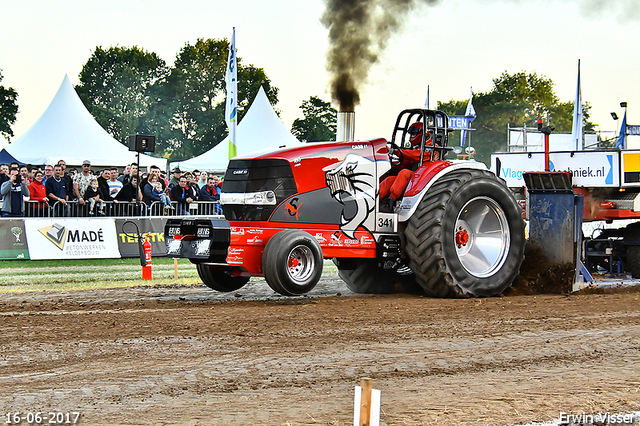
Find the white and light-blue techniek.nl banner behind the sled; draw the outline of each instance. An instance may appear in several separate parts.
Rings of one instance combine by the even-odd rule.
[[[551,152],[549,163],[551,171],[570,172],[573,186],[620,186],[620,157],[617,152]],[[511,188],[525,186],[523,173],[544,171],[544,153],[493,154],[491,171],[506,180]]]

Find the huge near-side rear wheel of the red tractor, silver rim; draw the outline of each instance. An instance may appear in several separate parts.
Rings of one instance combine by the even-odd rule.
[[[457,170],[425,194],[405,230],[416,281],[433,297],[495,296],[524,258],[524,221],[513,194],[485,170]]]

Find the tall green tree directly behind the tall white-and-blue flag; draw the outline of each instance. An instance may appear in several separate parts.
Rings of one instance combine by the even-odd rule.
[[[185,44],[178,53],[163,88],[163,105],[173,108],[168,138],[171,160],[200,155],[227,135],[224,110],[228,53],[227,39],[198,39],[194,45]],[[262,68],[244,66],[240,57],[237,61],[240,122],[260,86],[272,104],[278,102],[278,89],[271,86]]]

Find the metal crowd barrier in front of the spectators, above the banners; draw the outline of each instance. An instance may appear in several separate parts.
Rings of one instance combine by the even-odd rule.
[[[194,201],[188,209],[183,210],[176,202],[171,203],[171,209],[165,209],[164,204],[156,201],[147,206],[144,202],[105,201],[105,217],[130,216],[184,216],[200,215],[215,216],[222,214],[218,201]],[[94,208],[94,214],[89,214],[89,203],[82,205],[78,201],[68,201],[66,205],[56,201],[52,206],[41,201],[25,201],[25,217],[102,217],[99,209]]]

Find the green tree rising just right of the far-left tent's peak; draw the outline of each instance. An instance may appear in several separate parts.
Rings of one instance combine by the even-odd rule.
[[[153,52],[98,46],[80,71],[76,92],[96,121],[126,144],[128,135],[145,130],[147,112],[158,101],[155,86],[167,73]]]

